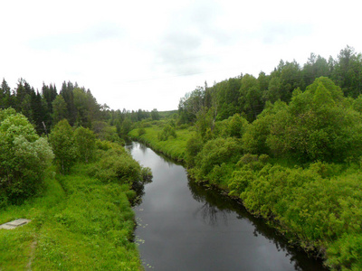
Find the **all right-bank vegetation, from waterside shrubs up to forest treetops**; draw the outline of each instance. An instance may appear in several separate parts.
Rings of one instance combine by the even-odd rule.
[[[178,114],[138,122],[129,135],[184,161],[195,182],[240,199],[326,266],[361,270],[362,96],[352,82],[360,86],[362,57],[347,48],[338,60],[205,84],[181,98]]]

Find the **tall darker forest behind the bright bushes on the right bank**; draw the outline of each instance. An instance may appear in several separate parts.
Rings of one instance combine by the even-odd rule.
[[[314,53],[307,63],[280,61],[270,75],[260,72],[255,78],[241,74],[225,79],[210,87],[197,87],[181,98],[178,110],[184,123],[195,121],[202,107],[214,108],[215,120],[223,120],[241,114],[252,122],[262,113],[268,102],[277,100],[289,103],[294,89],[304,91],[315,79],[328,77],[338,85],[345,97],[357,98],[362,93],[362,55],[352,47],[341,50],[337,59],[329,60]]]

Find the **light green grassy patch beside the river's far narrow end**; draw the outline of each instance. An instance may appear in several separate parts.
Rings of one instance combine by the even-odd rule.
[[[160,141],[158,134],[162,132],[162,129],[163,126],[146,127],[146,134],[144,135],[138,135],[138,129],[133,129],[129,132],[129,136],[150,145],[157,152],[166,154],[174,160],[185,161],[186,143],[192,135],[195,135],[195,131],[178,129],[176,130],[176,138],[169,136],[166,141]]]

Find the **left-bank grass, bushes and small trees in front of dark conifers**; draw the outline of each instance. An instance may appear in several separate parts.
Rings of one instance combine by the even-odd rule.
[[[1,270],[140,270],[132,186],[150,173],[122,145],[66,119],[46,137],[26,117],[0,110]],[[52,164],[52,159],[54,158]]]

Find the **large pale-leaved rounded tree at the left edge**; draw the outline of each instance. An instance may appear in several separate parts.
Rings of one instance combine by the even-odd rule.
[[[19,202],[35,194],[52,158],[47,140],[36,135],[24,115],[0,110],[0,201]]]

